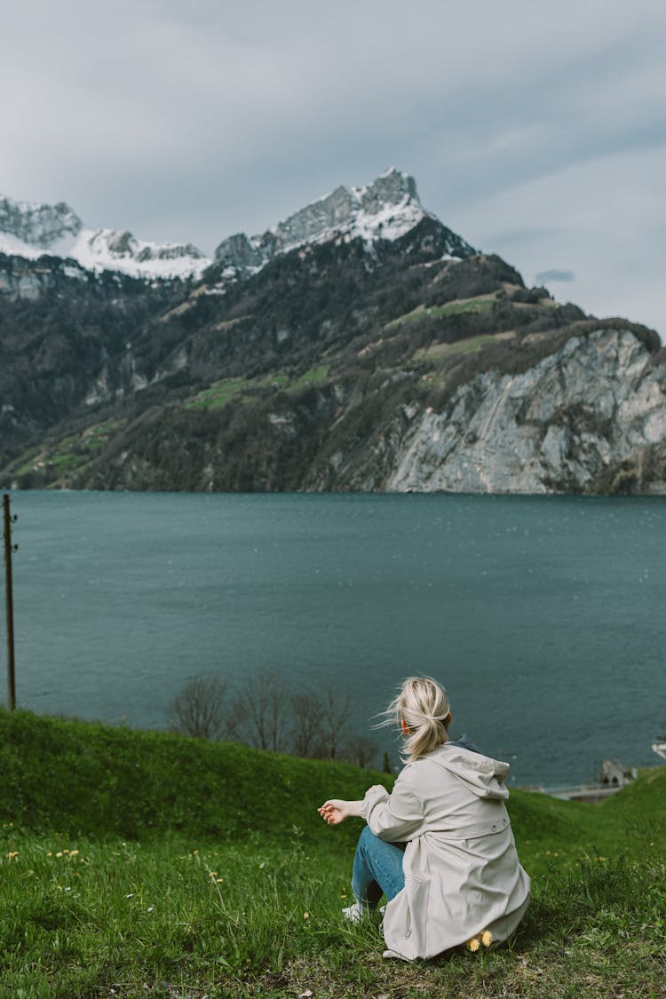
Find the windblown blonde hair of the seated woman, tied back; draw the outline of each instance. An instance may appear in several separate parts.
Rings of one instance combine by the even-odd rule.
[[[446,691],[430,676],[407,676],[398,693],[382,712],[382,725],[402,719],[408,728],[405,762],[413,762],[448,739],[446,721],[450,706]]]

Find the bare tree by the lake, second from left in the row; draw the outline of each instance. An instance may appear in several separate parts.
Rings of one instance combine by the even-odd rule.
[[[276,669],[260,669],[243,683],[236,699],[243,741],[260,749],[285,749],[285,727],[291,688]]]

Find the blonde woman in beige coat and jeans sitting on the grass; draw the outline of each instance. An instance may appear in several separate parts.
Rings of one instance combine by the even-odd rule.
[[[355,903],[344,915],[357,920],[386,896],[384,957],[506,940],[530,884],[504,804],[508,763],[448,741],[446,692],[428,677],[406,679],[384,715],[406,740],[408,761],[392,792],[374,785],[362,801],[332,798],[318,809],[329,825],[352,815],[367,823],[353,860]]]

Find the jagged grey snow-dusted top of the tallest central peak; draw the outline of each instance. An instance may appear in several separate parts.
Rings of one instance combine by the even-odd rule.
[[[335,188],[261,235],[230,237],[220,244],[215,259],[224,267],[253,273],[307,243],[335,237],[360,238],[368,244],[396,240],[426,216],[434,218],[418,200],[413,178],[391,167],[366,187]]]

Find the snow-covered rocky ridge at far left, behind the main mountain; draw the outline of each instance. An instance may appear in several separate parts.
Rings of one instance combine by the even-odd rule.
[[[147,243],[129,232],[84,229],[64,202],[39,205],[3,197],[0,253],[31,260],[50,254],[75,260],[88,271],[144,279],[200,277],[211,263],[190,243]]]

